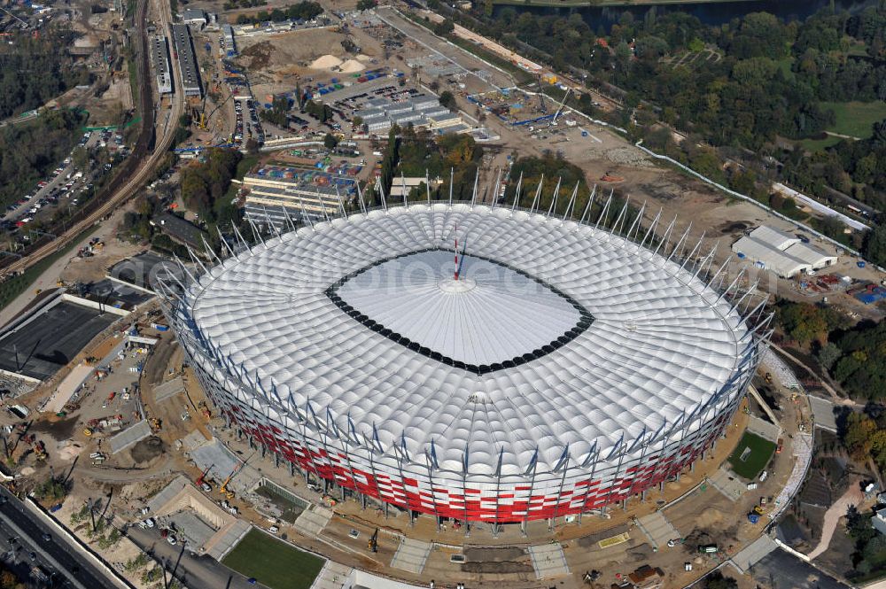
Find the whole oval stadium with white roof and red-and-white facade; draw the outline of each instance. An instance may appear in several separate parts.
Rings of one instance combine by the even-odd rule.
[[[756,369],[761,306],[673,224],[361,211],[229,249],[166,311],[229,425],[364,500],[517,523],[645,496]]]

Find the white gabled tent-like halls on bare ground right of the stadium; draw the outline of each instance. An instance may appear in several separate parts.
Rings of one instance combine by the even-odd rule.
[[[732,244],[739,258],[754,262],[782,278],[810,273],[833,266],[837,257],[795,235],[761,225]]]

